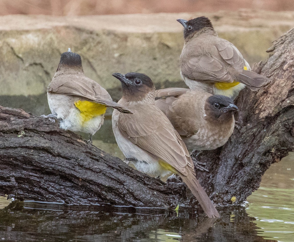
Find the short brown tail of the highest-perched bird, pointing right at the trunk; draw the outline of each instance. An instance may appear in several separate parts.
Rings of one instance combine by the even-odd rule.
[[[267,84],[270,83],[270,79],[268,79],[267,77],[248,70],[243,70],[243,72],[241,72],[236,78],[236,81],[245,84],[253,91],[258,90],[261,87],[265,87]]]

